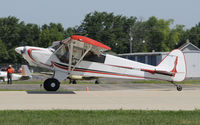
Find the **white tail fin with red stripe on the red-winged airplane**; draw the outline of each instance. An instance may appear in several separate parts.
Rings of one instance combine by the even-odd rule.
[[[187,73],[183,52],[178,49],[171,51],[160,64],[156,66],[156,72],[171,76],[169,81],[183,81]]]

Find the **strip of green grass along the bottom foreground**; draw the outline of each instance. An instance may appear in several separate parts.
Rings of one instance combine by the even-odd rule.
[[[0,111],[1,125],[199,125],[200,111]]]

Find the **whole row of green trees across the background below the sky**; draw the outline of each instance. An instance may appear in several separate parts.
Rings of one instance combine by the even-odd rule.
[[[24,60],[14,51],[18,46],[48,47],[53,41],[74,34],[100,41],[116,53],[170,51],[187,39],[200,47],[200,23],[191,29],[172,25],[172,19],[150,17],[143,21],[137,17],[96,11],[87,14],[80,25],[69,28],[60,23],[26,24],[9,16],[0,18],[0,63],[22,63]]]

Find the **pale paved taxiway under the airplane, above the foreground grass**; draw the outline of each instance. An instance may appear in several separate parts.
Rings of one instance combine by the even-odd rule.
[[[4,87],[24,85],[4,85]],[[26,87],[40,88],[39,85]],[[89,91],[85,91],[85,87]],[[25,88],[26,88],[25,87]],[[200,109],[200,86],[184,85],[178,92],[170,84],[62,85],[71,91],[0,91],[0,110],[5,109]],[[2,88],[2,85],[1,87]],[[73,89],[83,90],[74,91]],[[106,89],[107,88],[107,89]],[[103,91],[102,91],[103,90]]]

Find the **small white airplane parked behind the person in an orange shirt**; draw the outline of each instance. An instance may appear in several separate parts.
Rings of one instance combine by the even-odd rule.
[[[13,73],[12,80],[26,80],[32,77],[27,65],[22,65],[21,68],[22,68],[22,73],[21,74]],[[0,79],[4,82],[8,81],[7,71],[0,71]]]

